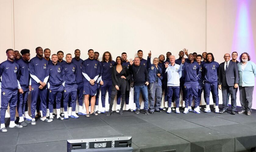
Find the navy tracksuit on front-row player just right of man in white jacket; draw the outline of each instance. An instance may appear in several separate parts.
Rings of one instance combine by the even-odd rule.
[[[198,79],[199,74],[199,64],[197,62],[190,63],[186,61],[182,67],[184,72],[184,89],[185,89],[185,107],[188,108],[188,105],[191,106],[192,99],[189,101],[190,92],[192,91],[195,98],[195,108],[199,105],[198,103]],[[190,102],[190,103],[189,103]]]

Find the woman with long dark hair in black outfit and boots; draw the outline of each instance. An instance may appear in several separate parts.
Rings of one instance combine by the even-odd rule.
[[[117,94],[117,91],[121,90],[122,95],[122,102],[120,108],[120,115],[123,115],[123,105],[125,102],[125,91],[126,89],[129,90],[130,86],[128,84],[128,80],[131,77],[130,71],[127,69],[126,66],[122,66],[122,58],[116,57],[116,65],[112,68],[112,92],[111,92],[111,100],[109,104],[109,110],[107,116],[113,115],[112,107],[114,103],[114,98]]]

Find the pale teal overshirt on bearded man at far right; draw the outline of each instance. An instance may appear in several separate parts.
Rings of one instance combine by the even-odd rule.
[[[239,86],[250,87],[255,85],[254,78],[256,77],[256,64],[247,61],[244,70],[242,70],[242,62],[237,64],[239,71]]]

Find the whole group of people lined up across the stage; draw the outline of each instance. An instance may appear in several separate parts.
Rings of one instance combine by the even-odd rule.
[[[179,52],[176,59],[171,52],[155,57],[151,63],[151,51],[147,60],[143,59],[143,51],[137,51],[137,57],[127,60],[127,54],[112,60],[110,52],[102,55],[88,50],[88,59],[80,59],[80,50],[72,54],[58,51],[52,54],[51,50],[36,48],[36,57],[30,60],[30,50],[20,52],[12,49],[6,50],[7,60],[0,64],[1,132],[7,132],[5,127],[5,112],[10,107],[9,128],[22,128],[27,123],[36,125],[36,117],[41,121],[50,123],[57,119],[79,118],[78,115],[97,116],[105,113],[105,97],[108,92],[109,110],[107,116],[113,114],[114,98],[117,95],[116,112],[123,114],[124,103],[129,104],[130,87],[134,90],[134,105],[136,108],[126,110],[136,114],[140,113],[140,92],[144,101],[144,113],[148,115],[162,110],[171,113],[172,110],[180,113],[180,91],[183,94],[183,113],[192,111],[194,99],[194,112],[200,113],[201,93],[204,91],[206,108],[204,112],[211,112],[210,92],[216,113],[226,113],[229,95],[231,96],[231,114],[236,114],[236,93],[240,90],[242,110],[238,114],[251,115],[252,94],[256,65],[250,61],[248,53],[240,55],[240,62],[236,59],[238,54],[225,54],[225,62],[219,64],[214,61],[212,53],[204,52],[202,55],[188,54],[187,49]],[[184,55],[188,58],[185,58]],[[51,56],[51,59],[50,59]],[[222,90],[222,111],[219,110],[218,88]],[[31,91],[31,116],[28,114],[27,98]],[[102,110],[99,111],[99,92],[101,91]],[[164,108],[161,109],[164,94]],[[79,112],[76,114],[76,101]],[[83,104],[85,108],[83,108]],[[19,119],[15,122],[16,108]],[[37,112],[37,113],[36,113]]]

